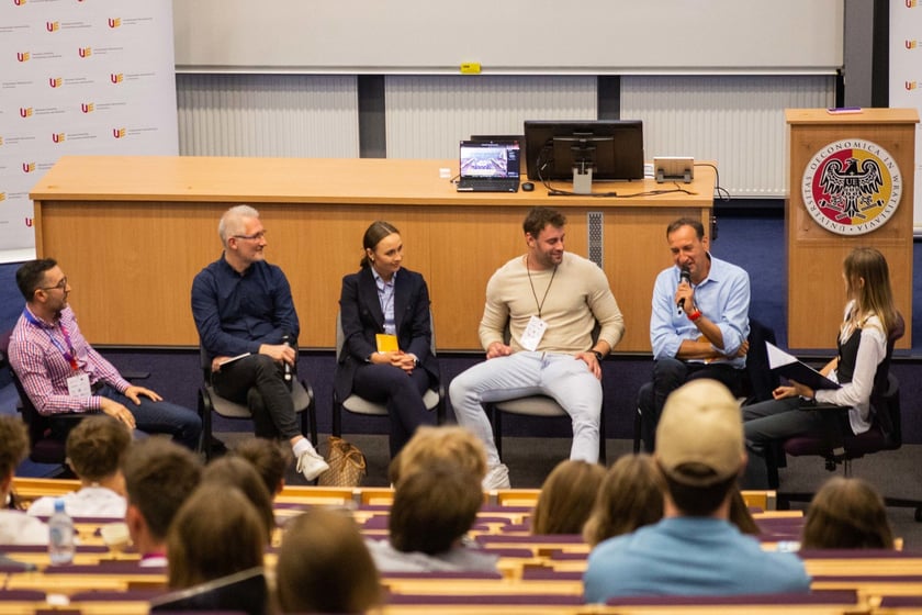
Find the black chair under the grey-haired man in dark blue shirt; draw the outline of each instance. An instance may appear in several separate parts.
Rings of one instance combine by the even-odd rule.
[[[252,413],[248,405],[232,402],[218,395],[211,380],[211,360],[204,347],[199,344],[199,356],[202,365],[202,387],[199,389],[199,415],[202,417],[202,450],[205,459],[211,459],[213,454],[212,412],[225,418],[252,420]],[[306,380],[293,379],[291,395],[294,401],[294,411],[301,417],[301,433],[307,434],[310,429],[311,444],[317,446],[317,412],[314,403],[314,390]],[[256,388],[251,388],[247,399],[254,403],[261,403],[262,396]]]

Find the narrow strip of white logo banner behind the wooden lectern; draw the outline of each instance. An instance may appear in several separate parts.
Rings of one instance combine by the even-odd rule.
[[[890,0],[890,107],[922,116],[922,0]],[[914,235],[922,235],[922,126],[915,126]],[[909,172],[909,170],[904,171]]]

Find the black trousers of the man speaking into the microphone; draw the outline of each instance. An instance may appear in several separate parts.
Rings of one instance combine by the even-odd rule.
[[[646,452],[653,452],[656,446],[656,425],[670,393],[699,378],[709,378],[721,382],[734,395],[739,394],[742,383],[742,369],[727,364],[685,362],[678,359],[659,359],[653,361],[653,382],[641,387],[637,396],[640,409],[641,436]]]

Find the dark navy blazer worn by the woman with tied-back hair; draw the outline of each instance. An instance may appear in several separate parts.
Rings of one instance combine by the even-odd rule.
[[[397,344],[404,353],[419,359],[419,366],[429,373],[429,387],[439,382],[439,362],[431,353],[432,323],[429,317],[429,288],[421,275],[401,268],[394,283],[394,324]],[[342,321],[342,351],[337,357],[333,387],[338,400],[352,392],[356,370],[375,350],[374,336],[384,333],[384,313],[378,299],[378,286],[370,267],[342,278],[339,297]]]

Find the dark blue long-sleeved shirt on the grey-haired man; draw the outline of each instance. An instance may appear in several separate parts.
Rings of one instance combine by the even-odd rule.
[[[258,353],[300,333],[288,278],[262,260],[243,273],[223,256],[202,269],[192,281],[192,317],[209,359]]]

